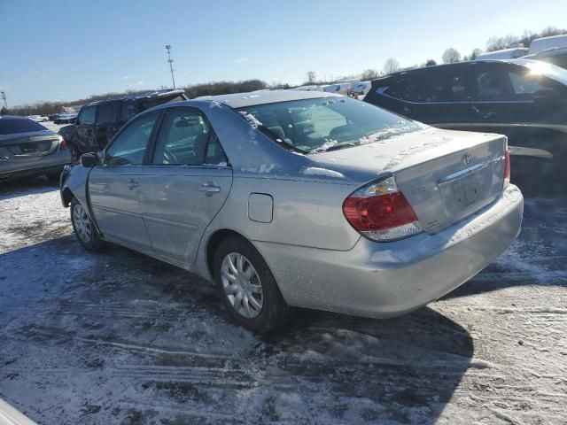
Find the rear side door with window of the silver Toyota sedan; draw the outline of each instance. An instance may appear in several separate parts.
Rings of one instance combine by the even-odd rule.
[[[169,108],[140,182],[140,206],[155,253],[189,267],[231,184],[232,168],[205,115],[195,108]]]

